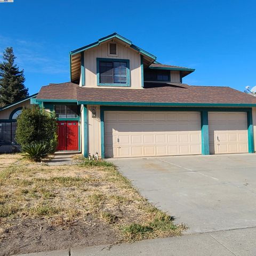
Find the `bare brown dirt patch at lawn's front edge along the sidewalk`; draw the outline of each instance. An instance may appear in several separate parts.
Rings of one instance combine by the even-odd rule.
[[[101,221],[55,225],[45,219],[16,220],[1,236],[1,256],[114,243],[118,233]]]

